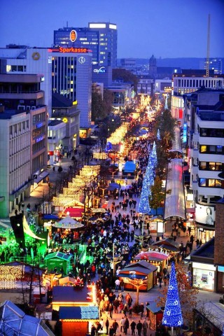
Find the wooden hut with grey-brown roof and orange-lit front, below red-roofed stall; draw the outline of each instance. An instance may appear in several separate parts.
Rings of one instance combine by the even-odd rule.
[[[152,265],[150,262],[141,260],[138,262],[131,262],[119,272],[119,278],[129,279],[146,279],[146,285],[141,286],[140,291],[147,291],[153,288],[157,283],[158,267]],[[125,283],[125,290],[135,290],[131,283]]]

